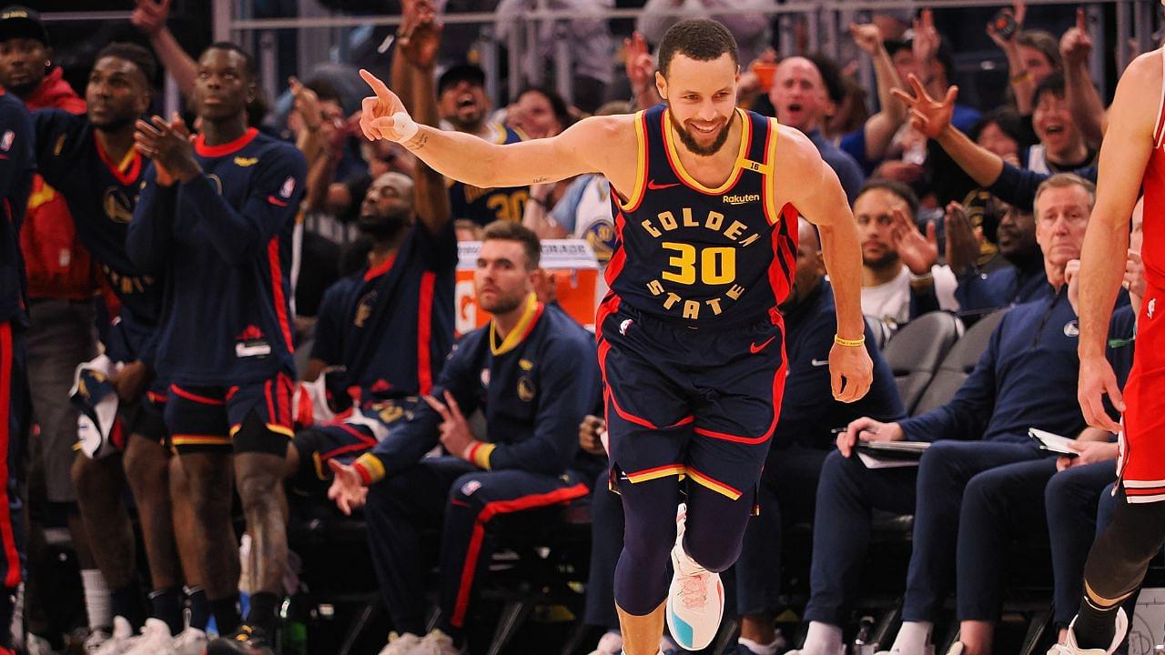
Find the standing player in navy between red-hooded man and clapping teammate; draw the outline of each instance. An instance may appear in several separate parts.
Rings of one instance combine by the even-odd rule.
[[[78,456],[72,469],[90,547],[111,589],[113,614],[121,618],[115,621],[120,631],[114,631],[114,643],[106,645],[100,655],[129,648],[126,628],[136,629],[143,622],[146,633],[135,645],[140,648],[135,653],[141,654],[169,647],[171,636],[184,628],[183,576],[170,512],[162,420],[167,385],[154,375],[153,362],[163,280],[134,265],[126,252],[129,220],[149,164],[133,147],[134,120],[149,108],[155,69],[153,55],[144,48],[106,45],[97,54],[85,89],[86,115],[61,110],[34,113],[41,175],[69,204],[77,234],[121,305],[116,321],[103,330],[103,340],[105,353],[123,365],[110,381],[121,396],[125,435],[94,458]],[[78,175],[79,170],[86,172]],[[121,501],[126,483],[141,519],[153,578],[151,621],[140,607],[133,527]],[[198,582],[192,579],[191,586],[197,587]],[[204,617],[205,608],[196,612],[182,648],[205,646]]]

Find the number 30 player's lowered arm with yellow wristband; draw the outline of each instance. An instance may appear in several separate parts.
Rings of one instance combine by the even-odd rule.
[[[857,225],[841,182],[821,160],[812,141],[797,129],[782,126],[776,147],[777,161],[782,162],[782,175],[777,176],[774,190],[777,203],[792,204],[821,234],[821,254],[838,312],[838,343],[829,353],[833,395],[840,401],[853,402],[866,395],[874,380],[869,353],[856,343],[866,334]],[[855,345],[842,341],[855,341]]]

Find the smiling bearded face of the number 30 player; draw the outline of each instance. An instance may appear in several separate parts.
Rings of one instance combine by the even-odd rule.
[[[656,72],[672,128],[689,150],[708,156],[723,147],[736,111],[739,79],[736,62],[727,52],[707,62],[680,52],[671,59],[666,77]]]

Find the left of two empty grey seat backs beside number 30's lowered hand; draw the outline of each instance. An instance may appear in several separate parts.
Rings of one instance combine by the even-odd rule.
[[[932,311],[899,328],[882,348],[908,414],[913,414],[939,362],[960,334],[962,322],[958,317]]]

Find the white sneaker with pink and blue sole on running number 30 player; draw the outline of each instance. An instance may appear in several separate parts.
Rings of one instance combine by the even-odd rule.
[[[707,648],[720,631],[725,613],[725,585],[720,573],[700,566],[684,552],[684,520],[687,507],[676,515],[676,545],[671,549],[675,573],[668,591],[668,631],[684,650]]]

